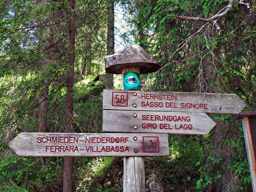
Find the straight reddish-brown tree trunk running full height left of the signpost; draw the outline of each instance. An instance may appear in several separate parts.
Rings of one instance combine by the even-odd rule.
[[[72,120],[73,120],[73,85],[74,85],[74,65],[75,65],[75,0],[69,1],[70,12],[68,13],[69,19],[69,60],[70,67],[67,71],[66,77],[66,127],[65,132],[72,132]],[[72,172],[73,172],[73,158],[65,157],[64,160],[64,176],[63,176],[63,191],[72,191]]]

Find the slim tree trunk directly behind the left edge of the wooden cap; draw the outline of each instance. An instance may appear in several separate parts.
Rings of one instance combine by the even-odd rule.
[[[114,1],[108,2],[107,55],[114,54]],[[106,73],[105,88],[113,88],[113,74]]]

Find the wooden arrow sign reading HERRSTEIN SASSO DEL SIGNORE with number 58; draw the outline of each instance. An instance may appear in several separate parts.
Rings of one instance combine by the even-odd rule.
[[[245,102],[235,94],[103,91],[104,110],[239,114],[245,105]]]

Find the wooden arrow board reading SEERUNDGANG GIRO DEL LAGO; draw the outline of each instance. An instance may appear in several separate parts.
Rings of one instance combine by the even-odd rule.
[[[204,113],[103,110],[104,132],[205,135],[215,125]]]

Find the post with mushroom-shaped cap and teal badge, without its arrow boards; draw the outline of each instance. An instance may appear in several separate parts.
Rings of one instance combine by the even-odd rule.
[[[137,78],[139,78],[139,74],[141,73],[154,72],[160,68],[160,64],[138,45],[130,45],[117,54],[105,56],[106,72],[114,74],[122,73],[123,90],[128,90],[129,87],[133,90],[138,90],[138,83],[140,81],[137,80],[136,77],[138,76]],[[134,72],[133,75],[136,77],[133,75],[129,77],[129,74],[127,74],[128,78],[126,82],[125,73],[127,72]],[[123,191],[146,191],[144,159],[142,157],[124,157]]]

